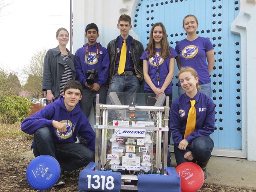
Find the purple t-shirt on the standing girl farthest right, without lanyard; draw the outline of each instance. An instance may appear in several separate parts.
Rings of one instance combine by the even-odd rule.
[[[183,39],[175,47],[176,52],[180,55],[181,67],[195,69],[198,73],[199,84],[211,82],[206,62],[206,52],[212,49],[211,41],[203,37],[198,37],[194,41]]]

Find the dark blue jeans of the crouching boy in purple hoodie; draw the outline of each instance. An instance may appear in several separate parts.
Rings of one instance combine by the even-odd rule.
[[[61,171],[73,171],[87,166],[94,161],[95,154],[85,145],[80,143],[53,143],[52,132],[48,127],[35,131],[34,134],[35,157],[39,155],[50,155],[58,160]]]

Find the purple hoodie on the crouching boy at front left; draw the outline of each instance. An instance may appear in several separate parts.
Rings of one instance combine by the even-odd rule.
[[[52,126],[53,120],[64,123],[67,126],[67,131],[65,133],[57,131]],[[55,102],[24,119],[21,123],[21,130],[30,135],[43,127],[51,129],[54,143],[76,143],[76,136],[79,134],[87,141],[87,148],[95,151],[95,132],[88,118],[81,111],[79,103],[76,104],[73,111],[69,112],[64,105],[63,96],[60,96]]]

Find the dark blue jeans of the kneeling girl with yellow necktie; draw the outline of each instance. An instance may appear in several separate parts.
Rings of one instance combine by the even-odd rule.
[[[194,157],[192,162],[207,162],[211,157],[211,152],[214,147],[213,140],[210,137],[198,137],[190,145],[190,150]],[[183,151],[174,146],[174,154],[177,166],[180,163],[188,162],[183,156]]]

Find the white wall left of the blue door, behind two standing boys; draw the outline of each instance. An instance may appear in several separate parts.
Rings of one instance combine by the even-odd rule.
[[[73,50],[75,53],[87,40],[84,38],[85,26],[95,23],[99,28],[98,42],[107,47],[109,41],[115,39],[119,34],[117,29],[118,18],[121,14],[131,16],[133,25],[134,9],[139,0],[73,0]],[[139,36],[133,28],[130,35],[137,40]]]

